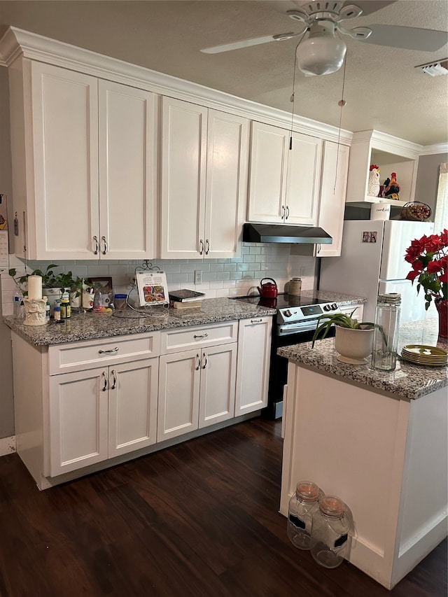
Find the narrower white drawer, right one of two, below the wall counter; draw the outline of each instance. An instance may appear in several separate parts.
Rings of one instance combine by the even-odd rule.
[[[193,346],[211,346],[237,342],[238,322],[223,321],[213,325],[195,325],[194,328],[176,328],[160,332],[160,353],[185,351]]]

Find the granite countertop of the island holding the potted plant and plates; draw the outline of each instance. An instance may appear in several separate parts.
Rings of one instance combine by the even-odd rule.
[[[427,319],[405,323],[400,326],[398,353],[405,344],[427,344],[447,350],[447,339],[437,339],[438,320]],[[448,367],[422,367],[412,365],[400,358],[394,371],[380,372],[367,365],[345,365],[337,360],[335,339],[317,340],[314,349],[311,342],[279,348],[277,353],[298,365],[314,367],[325,373],[356,382],[370,388],[395,394],[400,398],[415,400],[439,388],[448,386]]]

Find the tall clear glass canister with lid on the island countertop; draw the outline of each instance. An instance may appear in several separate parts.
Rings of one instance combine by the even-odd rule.
[[[378,296],[372,350],[372,367],[374,369],[381,371],[395,369],[400,308],[401,295],[399,293]]]

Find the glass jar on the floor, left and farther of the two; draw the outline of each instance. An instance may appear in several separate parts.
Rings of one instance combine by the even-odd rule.
[[[309,549],[311,521],[323,491],[311,481],[299,481],[289,500],[288,538],[299,549]]]

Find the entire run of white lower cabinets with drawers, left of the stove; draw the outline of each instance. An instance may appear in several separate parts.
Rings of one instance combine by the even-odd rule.
[[[48,489],[262,409],[271,326],[258,317],[51,346],[13,332],[20,458]]]

